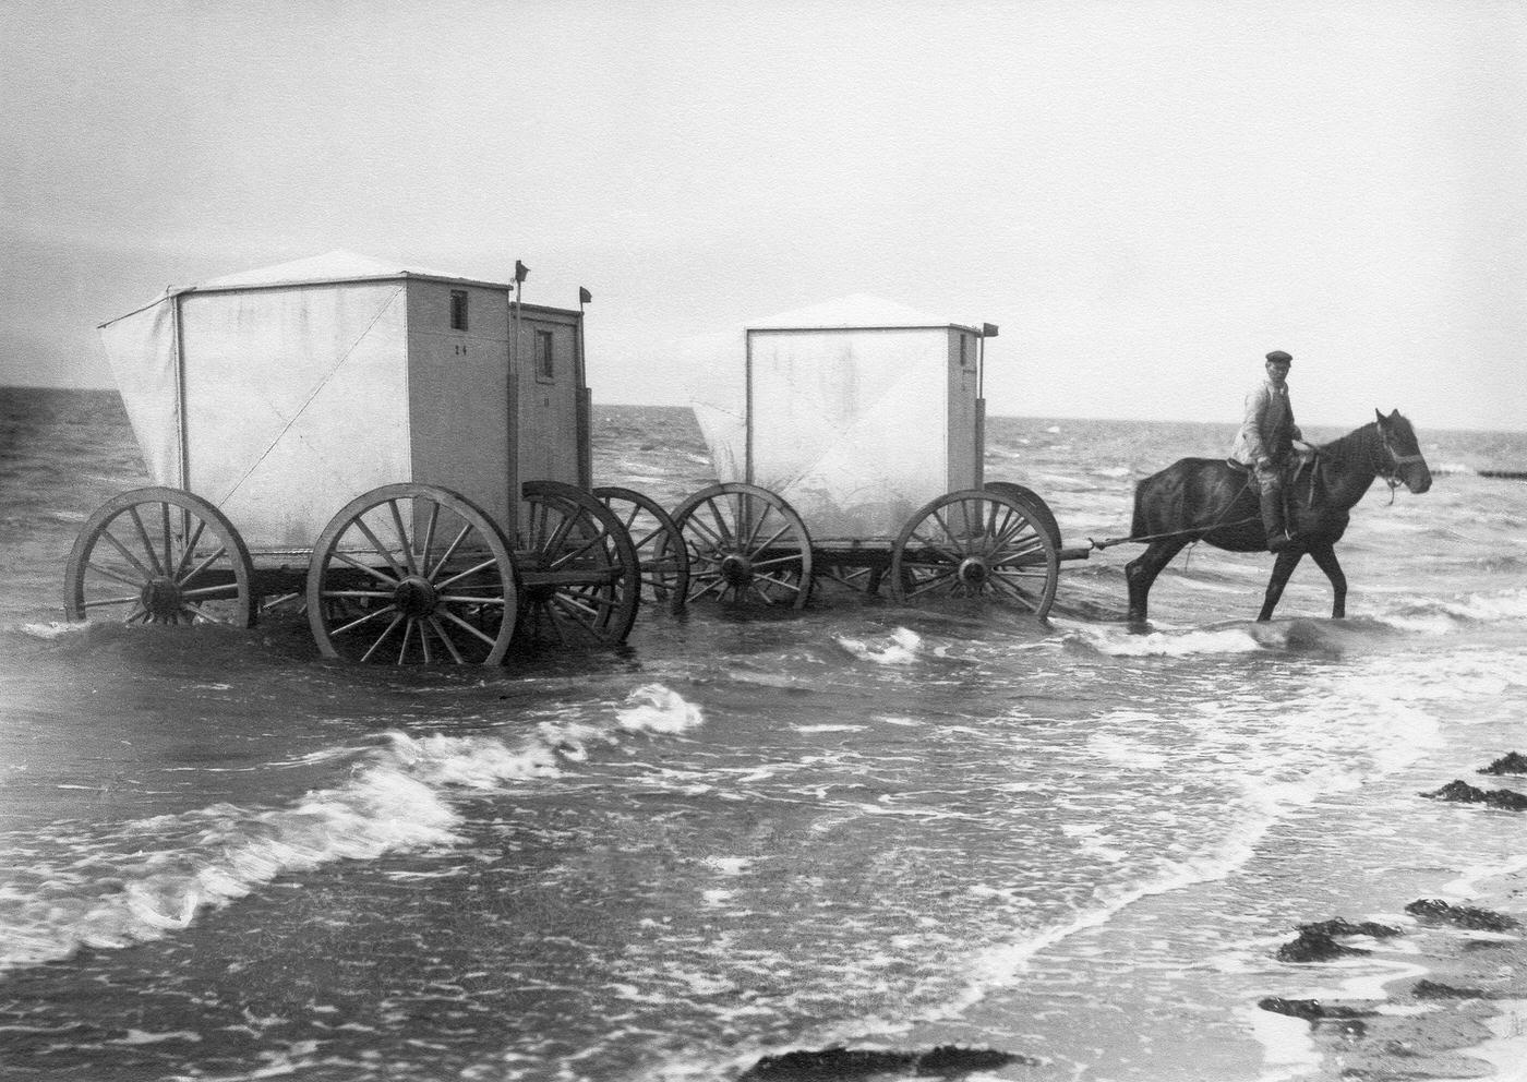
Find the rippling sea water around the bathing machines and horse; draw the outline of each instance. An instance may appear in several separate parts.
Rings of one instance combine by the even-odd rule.
[[[140,467],[110,398],[15,401],[21,1077],[724,1079],[950,1041],[1044,1061],[1011,1077],[1272,1077],[1254,1004],[1307,993],[1272,958],[1293,925],[1393,919],[1521,852],[1509,815],[1416,798],[1522,743],[1509,482],[1370,493],[1341,624],[1309,566],[1281,620],[1245,623],[1264,559],[1196,551],[1130,635],[1124,546],[1067,568],[1051,626],[840,598],[644,612],[620,655],[359,670],[301,624],[55,624],[73,531]],[[704,482],[687,414],[596,412],[600,481],[667,504]],[[1434,469],[1527,459],[1412,420]],[[1138,476],[1228,432],[989,440],[988,475],[1072,540],[1124,533]]]

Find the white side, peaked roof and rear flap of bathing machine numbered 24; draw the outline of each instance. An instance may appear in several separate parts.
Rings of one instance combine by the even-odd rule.
[[[450,278],[331,252],[104,324],[154,484],[183,485],[272,551],[312,546],[345,502],[411,479],[409,275]]]

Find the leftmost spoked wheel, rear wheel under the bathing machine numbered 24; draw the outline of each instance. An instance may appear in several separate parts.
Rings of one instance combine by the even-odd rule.
[[[179,488],[134,488],[79,530],[64,572],[64,613],[252,627],[252,574],[249,549],[215,507]]]

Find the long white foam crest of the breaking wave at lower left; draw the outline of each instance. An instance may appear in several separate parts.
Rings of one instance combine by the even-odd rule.
[[[116,856],[24,868],[27,887],[0,888],[0,972],[69,957],[82,945],[121,948],[162,939],[293,871],[457,845],[455,791],[554,778],[586,757],[592,742],[621,731],[680,733],[701,722],[698,707],[663,685],[637,688],[626,702],[614,726],[548,722],[518,745],[492,736],[394,731],[377,748],[348,749],[344,781],[286,807],[214,804],[125,824]],[[328,758],[313,752],[299,762]],[[102,882],[116,887],[102,891]]]

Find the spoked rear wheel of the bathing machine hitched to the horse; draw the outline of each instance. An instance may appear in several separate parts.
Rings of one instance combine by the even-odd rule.
[[[789,606],[811,597],[811,537],[783,499],[745,484],[702,488],[673,511],[689,546],[689,600]]]

